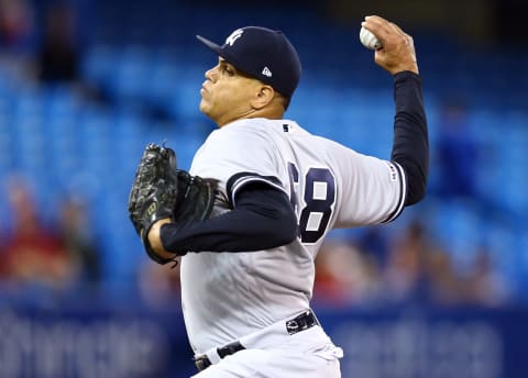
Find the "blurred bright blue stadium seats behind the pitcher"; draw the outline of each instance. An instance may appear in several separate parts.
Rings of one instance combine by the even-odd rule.
[[[197,108],[204,71],[215,64],[215,57],[195,46],[193,14],[185,9],[172,9],[169,15],[177,21],[168,15],[141,18],[147,7],[143,1],[127,4],[132,9],[123,23],[136,20],[146,24],[135,23],[129,29],[101,22],[101,40],[87,51],[82,65],[84,79],[108,91],[114,105],[110,110],[84,101],[69,87],[47,88],[16,81],[0,67],[0,175],[25,173],[38,185],[41,201],[45,203],[54,201],[57,188],[82,192],[96,214],[108,259],[107,278],[116,285],[130,279],[144,257],[139,253],[142,247],[125,212],[129,187],[144,145],[167,141],[176,149],[179,165],[189,168],[195,151],[212,127]],[[112,7],[120,9],[119,4],[109,3],[110,13]],[[241,19],[240,14],[232,14],[226,22],[237,24]],[[152,20],[164,21],[153,25]],[[302,37],[307,31],[300,23],[270,20],[278,26],[286,25],[286,21],[292,40],[299,42],[306,74],[286,115],[315,134],[361,153],[388,158],[394,116],[391,77],[372,64],[361,46],[343,51],[343,45],[352,45],[350,41],[356,38],[356,31],[314,26],[311,33],[320,40],[310,40]],[[220,30],[204,23],[200,27],[200,33],[212,36]],[[158,43],[144,44],[153,40]],[[320,46],[318,41],[328,45]],[[520,57],[527,64],[519,65],[515,60],[519,57],[513,60],[497,54],[496,58],[482,62],[477,54],[464,55],[449,43],[435,44],[431,49],[427,48],[427,40],[421,38],[417,45],[425,47],[420,66],[431,145],[441,126],[441,101],[455,91],[470,103],[470,131],[484,153],[479,191],[496,203],[493,216],[487,216],[475,211],[474,203],[430,200],[430,208],[435,209],[428,212],[432,216],[428,220],[431,230],[448,245],[460,266],[483,243],[496,253],[505,274],[526,278],[528,271],[517,264],[526,259],[526,232],[497,226],[495,213],[524,224],[528,216],[528,113],[526,108],[518,107],[528,103],[528,58]],[[447,54],[453,51],[457,60]],[[486,77],[485,82],[475,70]],[[513,84],[515,99],[504,96]],[[138,103],[146,103],[163,116],[145,113]],[[435,185],[435,166],[431,176]],[[0,224],[7,223],[2,205]],[[410,214],[415,215],[413,210]],[[404,216],[402,222],[410,219]]]

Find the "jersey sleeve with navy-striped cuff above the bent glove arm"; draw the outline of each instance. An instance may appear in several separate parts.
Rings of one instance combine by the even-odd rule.
[[[195,155],[190,173],[219,180],[219,188],[233,204],[237,193],[250,182],[285,191],[273,144],[264,133],[243,125],[212,132]]]

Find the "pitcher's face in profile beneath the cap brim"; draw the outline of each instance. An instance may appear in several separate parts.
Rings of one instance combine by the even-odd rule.
[[[253,112],[251,99],[261,82],[240,73],[233,65],[219,58],[218,65],[206,73],[200,90],[200,111],[220,127]]]

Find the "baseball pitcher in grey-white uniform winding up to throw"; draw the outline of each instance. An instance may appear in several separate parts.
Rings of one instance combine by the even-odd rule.
[[[301,68],[282,32],[246,26],[222,45],[198,36],[218,55],[200,90],[218,129],[189,173],[170,148],[148,145],[129,199],[148,256],[180,260],[196,378],[341,376],[343,351],[310,309],[318,249],[331,229],[395,220],[422,199],[428,175],[413,38],[380,16],[362,25],[394,78],[391,160],[284,118]]]

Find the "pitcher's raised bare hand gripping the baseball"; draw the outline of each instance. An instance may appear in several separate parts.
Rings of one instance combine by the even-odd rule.
[[[418,74],[415,44],[410,35],[398,25],[377,15],[365,18],[362,26],[371,31],[382,43],[383,48],[376,49],[374,60],[389,74],[404,70]]]

